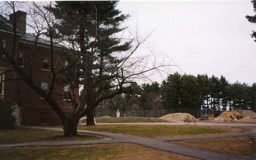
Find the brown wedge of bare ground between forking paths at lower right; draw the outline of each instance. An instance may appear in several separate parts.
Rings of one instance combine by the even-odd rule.
[[[256,137],[230,137],[198,140],[181,140],[171,141],[169,143],[234,156],[256,157]]]

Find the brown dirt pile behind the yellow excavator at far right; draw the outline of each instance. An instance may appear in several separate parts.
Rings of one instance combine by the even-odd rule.
[[[241,109],[236,109],[234,110],[238,112],[240,115],[243,115],[245,117],[249,117],[245,120],[241,121],[256,121],[256,113],[253,112],[252,110],[241,110]],[[214,118],[215,121],[230,121],[227,117],[225,117],[223,114],[220,114],[220,116]]]

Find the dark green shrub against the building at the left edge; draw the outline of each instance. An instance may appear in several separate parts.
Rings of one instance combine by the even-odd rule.
[[[16,124],[16,117],[12,115],[14,108],[8,100],[0,98],[0,129],[12,129]]]

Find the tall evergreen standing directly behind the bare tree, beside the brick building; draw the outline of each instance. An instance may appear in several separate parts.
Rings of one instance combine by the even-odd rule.
[[[88,77],[91,80],[88,79],[87,87],[84,88],[85,92],[82,93],[94,92],[94,97],[92,96],[91,100],[95,101],[95,98],[102,92],[106,92],[106,88],[111,89],[109,84],[108,87],[104,87],[107,83],[111,83],[109,78],[105,82],[104,80],[95,82],[106,78],[107,73],[113,70],[112,65],[107,62],[118,61],[116,57],[110,54],[112,52],[126,51],[130,48],[130,42],[120,45],[120,40],[112,38],[112,35],[124,29],[119,27],[120,22],[123,22],[128,16],[119,15],[121,12],[115,8],[117,1],[58,1],[56,3],[52,12],[57,18],[62,19],[57,27],[58,31],[60,31],[63,39],[67,39],[67,36],[73,36],[74,31],[77,32],[77,34],[75,33],[77,38],[72,39],[73,42],[70,43],[79,45],[81,52],[85,53],[82,63],[92,64],[89,68],[88,65],[81,65],[83,72],[92,73],[92,79]],[[67,11],[69,7],[71,12]],[[64,13],[64,16],[59,13],[60,10]],[[67,28],[63,27],[70,24],[72,16],[78,17],[77,23],[72,22],[72,25],[75,25],[73,27],[76,29],[70,28],[71,31],[67,32]],[[91,49],[91,51],[88,52],[88,49]],[[90,87],[91,82],[95,83],[94,91],[90,91],[92,89]],[[86,125],[94,125],[94,109],[87,113]]]

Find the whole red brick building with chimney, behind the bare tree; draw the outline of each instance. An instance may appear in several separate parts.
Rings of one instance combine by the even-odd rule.
[[[34,50],[35,36],[26,33],[26,12],[17,11],[15,14],[10,14],[10,19],[7,20],[0,15],[0,40],[2,46],[8,54],[14,53],[15,61],[20,69],[28,73],[29,66],[32,79],[37,86],[41,86],[47,92],[51,83],[51,68],[50,60],[50,45],[46,40],[39,38],[36,44],[36,54],[33,56],[33,64],[29,64],[29,59]],[[16,31],[18,35],[17,43],[14,44],[14,26],[13,21],[16,20]],[[13,51],[15,45],[15,50]],[[0,56],[4,58],[4,55]],[[63,52],[63,47],[55,45],[54,53],[60,54]],[[57,67],[65,67],[65,57],[58,57],[53,64]],[[15,107],[15,116],[17,117],[17,125],[39,126],[39,125],[61,125],[61,120],[53,111],[51,106],[34,90],[29,88],[24,81],[19,80],[19,75],[15,71],[6,72],[12,69],[10,63],[0,59],[0,98],[7,99],[13,103]],[[12,79],[16,79],[15,81]],[[4,82],[3,82],[4,81]],[[59,94],[56,96],[55,102],[68,113],[72,103],[68,103],[68,98],[65,95],[68,92],[70,84],[58,83],[54,86],[54,90]],[[74,93],[78,100],[78,88]]]

